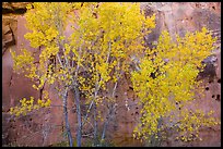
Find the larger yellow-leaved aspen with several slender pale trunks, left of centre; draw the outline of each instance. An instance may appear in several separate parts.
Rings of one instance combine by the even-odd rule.
[[[114,104],[117,84],[122,74],[128,73],[131,57],[137,57],[145,49],[143,37],[154,28],[155,16],[145,17],[139,3],[35,2],[27,5],[25,18],[26,27],[31,30],[25,38],[38,52],[35,54],[28,49],[20,53],[11,51],[14,71],[37,80],[33,85],[37,90],[46,84],[57,85],[56,89],[63,101],[69,146],[73,146],[73,142],[67,100],[68,92],[73,91],[78,122],[77,146],[81,146],[82,128],[91,111],[94,113],[96,140],[99,116],[97,105],[103,100],[101,92],[107,90],[108,83],[113,83],[111,98],[107,101]],[[72,24],[72,33],[67,37],[64,29],[69,23]],[[85,115],[81,109],[81,95],[84,95],[85,103],[89,104]],[[105,138],[105,129],[102,139]]]

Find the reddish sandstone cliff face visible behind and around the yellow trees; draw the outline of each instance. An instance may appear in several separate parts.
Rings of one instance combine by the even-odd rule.
[[[13,62],[9,51],[9,49],[17,51],[21,48],[35,50],[23,37],[27,29],[25,18],[21,13],[26,11],[26,2],[2,3],[2,144],[48,146],[66,140],[61,101],[56,96],[54,88],[45,88],[50,91],[49,97],[54,99],[54,105],[50,109],[35,111],[16,121],[7,113],[10,107],[19,103],[19,99],[31,96],[39,97],[39,92],[32,88],[32,83],[27,78],[12,71]],[[209,64],[200,74],[200,79],[204,80],[206,96],[199,98],[197,102],[204,111],[214,110],[214,116],[221,119],[221,2],[142,2],[141,7],[145,15],[156,14],[156,27],[146,37],[148,46],[152,46],[151,42],[157,40],[164,29],[167,29],[173,37],[174,34],[184,36],[186,32],[199,30],[203,26],[213,30],[214,36],[218,37],[219,48],[213,51],[213,55],[203,61]],[[110,137],[117,146],[143,146],[142,142],[132,139],[132,131],[140,114],[140,107],[137,104],[129,76],[122,79],[117,90],[120,110],[109,123],[106,137]],[[69,94],[69,120],[74,136],[77,117],[73,114],[72,92]],[[125,105],[126,102],[129,109]],[[202,129],[203,140],[191,144],[174,141],[169,136],[162,146],[221,146],[220,132],[220,126]]]

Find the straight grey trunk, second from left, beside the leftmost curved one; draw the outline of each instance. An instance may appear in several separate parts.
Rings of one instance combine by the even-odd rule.
[[[77,117],[78,117],[77,146],[78,146],[78,147],[81,147],[82,120],[81,120],[80,91],[79,91],[78,86],[74,86],[74,98],[75,98]]]

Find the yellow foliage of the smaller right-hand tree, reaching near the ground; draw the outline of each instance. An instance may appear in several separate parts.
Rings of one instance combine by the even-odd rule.
[[[214,41],[206,28],[187,33],[185,37],[176,36],[176,41],[167,32],[163,32],[155,48],[146,50],[148,55],[141,60],[140,71],[131,74],[133,89],[142,105],[141,124],[134,131],[137,138],[149,139],[157,134],[161,119],[171,116],[173,111],[183,109],[195,99],[195,89],[199,86],[196,80],[198,67],[203,67],[201,61],[211,54]],[[176,102],[181,104],[176,105]],[[179,122],[184,141],[188,140],[185,132],[191,134],[201,126],[211,126],[216,122],[210,117],[204,123],[204,115],[188,115],[186,111],[181,111],[179,117],[183,120],[175,120],[175,123]]]

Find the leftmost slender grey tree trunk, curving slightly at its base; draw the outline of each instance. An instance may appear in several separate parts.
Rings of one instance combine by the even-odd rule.
[[[66,131],[68,133],[69,145],[70,145],[70,147],[72,147],[73,146],[73,140],[72,140],[72,135],[71,135],[71,131],[70,131],[70,124],[69,124],[69,121],[68,121],[67,101],[68,101],[68,91],[66,90],[66,92],[63,95],[63,114],[64,114]]]

